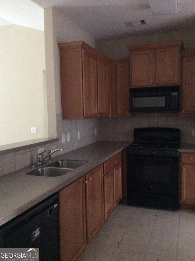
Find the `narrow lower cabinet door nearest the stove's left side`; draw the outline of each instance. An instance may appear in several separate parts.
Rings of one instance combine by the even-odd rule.
[[[122,198],[121,164],[114,168],[114,207]]]

